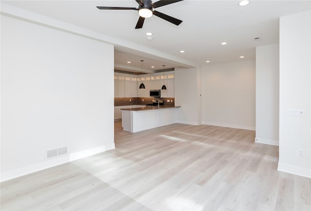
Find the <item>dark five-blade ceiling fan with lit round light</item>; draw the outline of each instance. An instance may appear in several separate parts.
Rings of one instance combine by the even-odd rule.
[[[138,8],[135,7],[97,7],[97,8],[100,10],[138,10],[139,18],[135,29],[141,29],[142,25],[144,24],[145,18],[151,17],[152,15],[158,16],[178,26],[179,24],[181,24],[181,22],[183,22],[182,20],[178,20],[174,17],[165,15],[163,13],[154,10],[155,8],[172,4],[178,1],[182,0],[159,0],[156,1],[155,3],[153,3],[152,0],[136,0],[136,2],[139,4]]]

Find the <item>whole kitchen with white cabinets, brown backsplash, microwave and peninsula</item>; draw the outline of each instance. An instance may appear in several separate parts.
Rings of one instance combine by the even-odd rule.
[[[145,89],[139,89],[143,84]],[[161,90],[162,85],[166,90]],[[174,71],[144,75],[115,73],[115,121],[135,133],[175,123]]]

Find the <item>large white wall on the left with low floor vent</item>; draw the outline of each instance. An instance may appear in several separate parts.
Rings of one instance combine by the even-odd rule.
[[[113,51],[1,15],[1,181],[114,148]]]

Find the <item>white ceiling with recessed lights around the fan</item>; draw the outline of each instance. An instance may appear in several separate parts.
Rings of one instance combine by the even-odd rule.
[[[240,56],[255,59],[256,46],[278,43],[280,16],[311,9],[311,0],[250,0],[244,7],[239,0],[183,0],[155,9],[183,20],[179,26],[153,15],[136,30],[137,11],[96,8],[138,7],[135,0],[1,2],[126,42],[115,43],[115,69],[133,72],[141,71],[140,60],[143,72],[155,72],[163,70],[162,65],[171,69],[238,61]],[[153,33],[151,41],[146,32]]]

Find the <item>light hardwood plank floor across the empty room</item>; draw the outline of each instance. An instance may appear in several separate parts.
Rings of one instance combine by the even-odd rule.
[[[255,132],[172,124],[116,149],[1,183],[2,211],[311,211],[311,179],[276,170]]]

